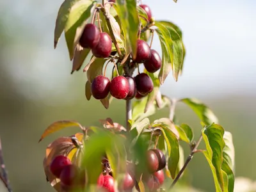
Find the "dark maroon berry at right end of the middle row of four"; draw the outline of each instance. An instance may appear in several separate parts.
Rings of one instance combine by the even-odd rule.
[[[147,95],[148,93],[152,92],[154,88],[154,84],[152,79],[145,73],[138,74],[135,77],[137,92],[141,95]]]

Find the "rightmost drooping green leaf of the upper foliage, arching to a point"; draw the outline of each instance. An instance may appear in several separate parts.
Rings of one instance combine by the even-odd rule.
[[[182,46],[182,39],[173,28],[173,24],[171,22],[156,22],[157,27],[159,27],[159,24],[163,25],[164,28],[168,30],[168,33],[170,34],[172,38],[172,44],[173,49],[170,51],[173,51],[173,62],[172,62],[172,71],[173,71],[173,77],[175,81],[178,81],[180,69],[182,67],[182,61],[183,61],[183,46]],[[167,43],[167,42],[166,42]]]

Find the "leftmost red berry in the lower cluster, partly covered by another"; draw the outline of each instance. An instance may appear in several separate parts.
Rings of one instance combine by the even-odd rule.
[[[52,163],[50,164],[50,170],[53,175],[55,175],[57,178],[60,177],[60,173],[65,168],[65,166],[68,166],[69,164],[72,164],[70,159],[66,156],[56,156]]]

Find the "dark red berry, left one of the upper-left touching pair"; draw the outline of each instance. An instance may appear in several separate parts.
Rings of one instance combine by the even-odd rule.
[[[94,48],[99,44],[100,31],[95,24],[86,24],[79,43],[84,48]]]

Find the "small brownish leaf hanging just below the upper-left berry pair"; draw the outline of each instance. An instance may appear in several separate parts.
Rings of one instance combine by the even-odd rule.
[[[73,74],[75,70],[78,71],[81,68],[89,52],[90,49],[83,49],[83,47],[77,44],[74,52],[74,60],[71,74]]]

